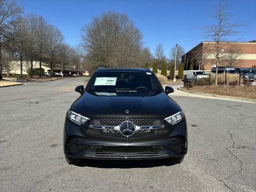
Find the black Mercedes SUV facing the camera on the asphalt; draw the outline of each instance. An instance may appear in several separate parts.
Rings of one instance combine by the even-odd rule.
[[[69,164],[86,159],[182,162],[188,137],[184,112],[148,68],[98,68],[64,124]]]

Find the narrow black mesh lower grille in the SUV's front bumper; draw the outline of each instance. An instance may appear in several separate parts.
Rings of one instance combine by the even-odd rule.
[[[100,146],[96,154],[148,154],[158,153],[158,148],[153,146]]]

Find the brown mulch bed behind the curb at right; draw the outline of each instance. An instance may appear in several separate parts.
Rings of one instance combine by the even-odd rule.
[[[182,87],[182,89],[187,90],[186,87]],[[231,97],[256,99],[256,86],[194,86],[190,88],[190,91]]]

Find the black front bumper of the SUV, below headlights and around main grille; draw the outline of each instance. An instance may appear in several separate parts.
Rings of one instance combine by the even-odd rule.
[[[85,125],[86,126],[86,125]],[[169,125],[170,126],[170,125]],[[85,128],[66,118],[64,125],[64,153],[72,158],[131,160],[181,157],[187,153],[186,118],[170,126],[161,138],[114,140],[93,138]]]

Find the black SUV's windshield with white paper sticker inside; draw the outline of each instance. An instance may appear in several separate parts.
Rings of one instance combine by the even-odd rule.
[[[138,92],[160,91],[150,72],[98,72],[90,86],[90,91]]]

